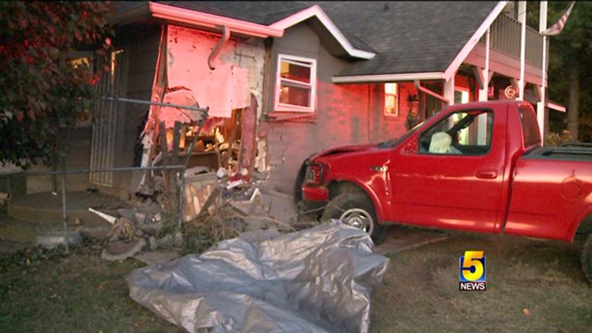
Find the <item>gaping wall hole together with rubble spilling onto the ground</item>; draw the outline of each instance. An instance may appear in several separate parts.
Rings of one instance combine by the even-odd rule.
[[[187,253],[204,251],[244,232],[294,230],[298,219],[294,198],[265,190],[269,172],[255,168],[261,157],[255,137],[255,95],[250,95],[249,106],[220,118],[208,117],[209,108],[200,108],[191,91],[162,88],[165,96],[175,99],[151,105],[141,135],[140,165],[167,169],[145,170],[138,177],[136,211],[103,216],[112,225],[110,242],[138,245],[144,239],[153,251],[181,247]],[[146,212],[144,206],[153,210]],[[136,251],[138,246],[110,248]],[[104,257],[111,258],[110,253]]]

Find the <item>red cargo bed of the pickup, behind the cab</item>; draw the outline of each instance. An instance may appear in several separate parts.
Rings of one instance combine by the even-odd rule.
[[[592,146],[543,147],[516,161],[504,233],[570,242],[592,204]]]

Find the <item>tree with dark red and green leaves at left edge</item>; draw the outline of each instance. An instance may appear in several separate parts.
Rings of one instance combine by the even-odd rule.
[[[94,101],[98,73],[73,66],[76,50],[105,57],[114,31],[104,1],[0,2],[0,165],[49,165],[57,137]]]

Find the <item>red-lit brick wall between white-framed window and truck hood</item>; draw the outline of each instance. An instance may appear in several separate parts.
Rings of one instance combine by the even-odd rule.
[[[259,133],[266,139],[271,168],[269,184],[276,191],[292,194],[298,169],[311,154],[402,135],[406,132],[407,92],[400,101],[400,116],[386,117],[382,84],[337,85],[318,81],[317,112],[310,123],[261,123]]]

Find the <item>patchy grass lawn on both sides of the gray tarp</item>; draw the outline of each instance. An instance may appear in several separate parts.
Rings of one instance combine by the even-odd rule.
[[[391,254],[372,295],[371,332],[590,332],[592,289],[580,242],[455,233]],[[0,259],[1,332],[182,332],[138,305],[124,276],[139,261],[101,260],[101,246],[29,249]],[[483,250],[487,291],[458,290],[459,256]]]

